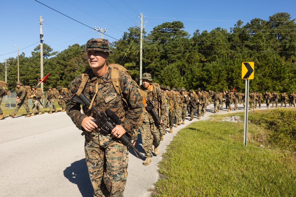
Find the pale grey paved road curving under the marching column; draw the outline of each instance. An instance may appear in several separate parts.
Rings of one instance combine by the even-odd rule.
[[[239,105],[238,111],[243,111],[242,105]],[[228,112],[223,109],[219,113]],[[186,118],[185,125],[167,133],[160,144],[159,155],[152,157],[148,166],[142,165],[144,160],[136,158],[131,149],[125,196],[149,196],[149,188],[153,188],[158,179],[157,163],[173,136],[191,122],[209,119],[209,115],[213,115],[213,105],[207,107],[207,113],[201,120],[194,118],[189,121]],[[80,133],[65,112],[1,120],[1,196],[91,197],[84,137]],[[136,148],[144,155],[140,134]]]

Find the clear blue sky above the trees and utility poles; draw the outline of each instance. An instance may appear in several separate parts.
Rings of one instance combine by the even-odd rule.
[[[147,21],[143,25],[147,33],[164,22],[178,20],[184,23],[184,30],[191,35],[197,29],[200,32],[211,31],[216,27],[229,30],[238,20],[244,21],[243,25],[254,18],[268,20],[278,12],[287,12],[291,19],[296,18],[295,0],[38,1],[84,25],[35,0],[1,1],[0,62],[9,57],[17,57],[17,47],[12,45],[19,46],[19,54],[24,52],[25,56],[31,56],[31,52],[40,44],[40,15],[44,20],[44,43],[50,45],[54,51],[63,51],[75,43],[85,44],[90,38],[100,38],[100,35],[91,29],[95,26],[107,29],[105,39],[110,42],[118,40],[129,27],[140,26],[140,23],[136,23],[140,22],[140,13],[143,14],[143,20]]]

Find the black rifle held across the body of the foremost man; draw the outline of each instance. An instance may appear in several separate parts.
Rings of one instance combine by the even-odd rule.
[[[71,100],[78,102],[78,103],[82,104],[83,106],[89,107],[91,105],[90,101],[83,94],[80,94],[79,96],[74,95],[70,99],[70,101]],[[103,131],[105,131],[106,133],[110,133],[112,131],[112,129],[115,128],[116,125],[121,124],[120,118],[114,112],[112,112],[110,109],[106,109],[104,112],[102,112],[102,111],[99,111],[97,108],[95,108],[94,105],[91,106],[91,109],[94,111],[95,116],[96,116],[96,118],[92,121],[99,128],[101,128]],[[125,145],[127,145],[128,148],[131,147],[134,150],[134,152],[138,158],[139,158],[139,155],[142,158],[144,157],[144,155],[142,155],[135,148],[135,146],[133,146],[133,144],[131,143],[130,136],[128,136],[128,134],[124,133],[120,137],[120,141],[122,141]]]

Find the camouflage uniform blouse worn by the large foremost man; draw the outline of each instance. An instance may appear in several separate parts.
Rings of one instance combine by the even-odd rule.
[[[105,111],[106,109],[112,110],[119,118],[123,118],[126,115],[125,120],[122,121],[121,126],[126,130],[127,133],[132,133],[134,128],[140,121],[140,116],[142,114],[143,103],[141,100],[141,95],[137,90],[137,87],[134,85],[132,79],[120,71],[119,81],[120,86],[122,89],[122,93],[126,101],[128,102],[128,114],[126,115],[126,111],[123,107],[123,100],[120,95],[117,95],[112,82],[110,81],[111,78],[111,68],[108,66],[107,72],[102,77],[97,77],[90,72],[89,81],[90,83],[86,83],[85,89],[82,94],[91,100],[94,97],[96,83],[94,81],[101,79],[104,83],[98,83],[98,93],[94,99],[93,105],[100,111]],[[66,112],[72,119],[73,123],[76,125],[77,128],[80,130],[81,123],[84,118],[91,115],[91,110],[88,108],[84,108],[84,113],[81,113],[80,104],[71,101],[70,98],[77,92],[79,86],[81,84],[81,74],[78,75],[72,82],[70,86],[70,91],[67,95],[67,104],[66,104]],[[99,130],[99,129],[97,129]],[[101,133],[100,131],[99,133]],[[87,132],[90,133],[90,132]],[[110,136],[112,134],[100,135],[100,142],[103,141],[111,141]],[[104,137],[105,136],[105,137]],[[102,138],[102,139],[101,139]]]

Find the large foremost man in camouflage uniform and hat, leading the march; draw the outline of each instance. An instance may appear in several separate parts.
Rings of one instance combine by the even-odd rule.
[[[85,114],[82,114],[80,104],[69,100],[78,91],[82,75],[78,75],[71,82],[66,112],[77,128],[85,130],[84,150],[94,196],[123,197],[128,175],[128,149],[119,141],[119,138],[124,133],[131,135],[139,123],[143,108],[141,95],[133,80],[122,71],[119,71],[122,94],[118,95],[115,91],[110,82],[111,68],[106,64],[109,52],[112,52],[108,47],[108,40],[89,40],[83,51],[87,51],[91,69],[85,71],[89,80],[82,94],[89,100],[94,98],[93,105],[98,110],[112,110],[122,122],[115,126],[111,133],[105,133],[100,128],[96,128],[96,124],[92,121],[94,119],[91,117],[93,110],[88,110],[88,107],[83,106]],[[128,113],[124,108],[122,97],[127,101]]]

